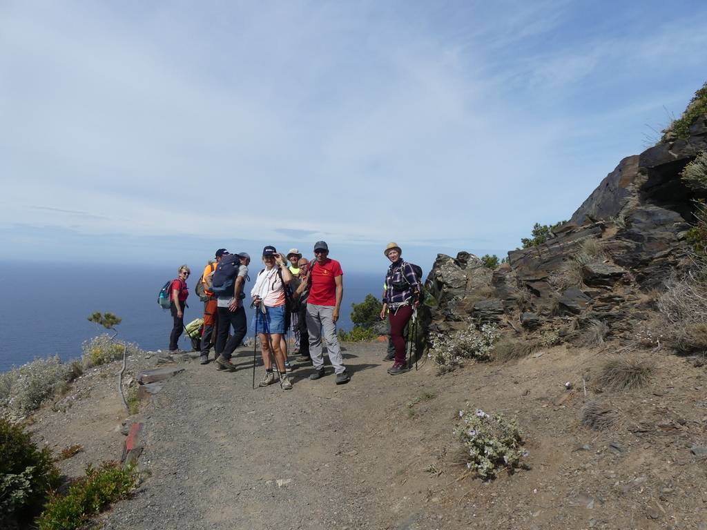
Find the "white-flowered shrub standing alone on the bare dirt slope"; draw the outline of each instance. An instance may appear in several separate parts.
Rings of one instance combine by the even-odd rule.
[[[489,480],[503,469],[512,473],[520,467],[526,456],[522,449],[522,435],[515,419],[508,420],[501,414],[491,416],[480,408],[476,411],[459,411],[460,423],[455,434],[467,451],[464,464],[477,475]]]

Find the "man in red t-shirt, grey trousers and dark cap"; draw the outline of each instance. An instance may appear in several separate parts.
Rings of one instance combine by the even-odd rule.
[[[329,247],[324,241],[314,245],[315,260],[309,271],[310,295],[307,299],[307,331],[310,339],[310,355],[315,372],[310,379],[319,379],[324,372],[322,334],[327,341],[329,360],[337,375],[337,384],[348,383],[351,377],[346,372],[337,337],[337,320],[344,296],[344,282],[339,261],[329,259]]]

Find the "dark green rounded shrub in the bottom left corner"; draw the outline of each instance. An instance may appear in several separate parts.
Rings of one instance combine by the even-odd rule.
[[[21,426],[0,418],[0,527],[32,522],[58,482],[52,452],[40,450]]]

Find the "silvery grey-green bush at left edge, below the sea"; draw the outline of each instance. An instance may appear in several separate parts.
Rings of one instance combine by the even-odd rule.
[[[62,363],[59,355],[36,359],[0,374],[0,409],[21,416],[40,408],[43,401],[66,390],[81,375],[81,365]]]

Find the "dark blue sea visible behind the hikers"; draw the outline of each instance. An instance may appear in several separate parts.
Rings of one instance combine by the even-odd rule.
[[[255,278],[257,268],[250,267]],[[189,298],[185,324],[203,315],[204,305],[193,293],[201,271],[192,270],[187,281]],[[172,330],[169,310],[157,304],[164,283],[175,274],[173,266],[50,264],[0,261],[0,372],[34,360],[59,355],[62,360],[81,357],[81,345],[105,332],[88,322],[93,312],[112,312],[122,318],[117,338],[146,351],[167,350]],[[250,293],[253,279],[245,292]],[[337,327],[351,329],[351,304],[368,293],[378,298],[382,274],[344,272],[344,300]],[[248,299],[246,299],[248,300]],[[246,307],[249,334],[252,310]],[[191,350],[186,336],[180,348]]]

